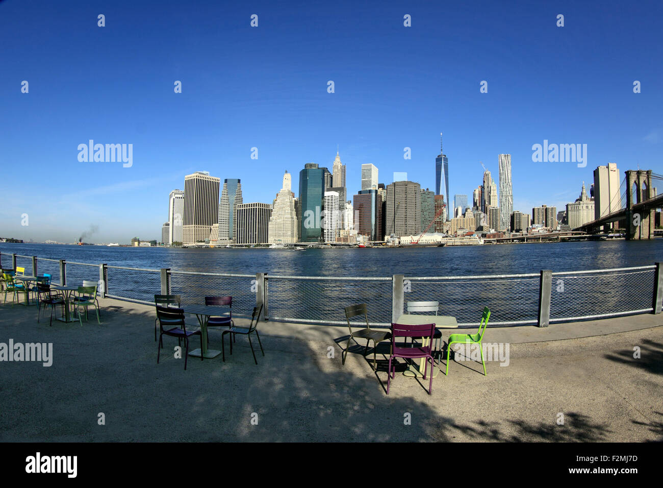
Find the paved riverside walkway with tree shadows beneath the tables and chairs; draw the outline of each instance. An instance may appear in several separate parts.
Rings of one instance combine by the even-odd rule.
[[[261,322],[257,366],[237,337],[225,363],[190,358],[184,371],[174,339],[156,364],[154,307],[101,299],[101,312],[101,325],[49,327],[36,307],[0,305],[0,343],[53,344],[49,367],[0,362],[0,441],[663,440],[663,315],[489,325],[484,342],[509,343],[508,366],[487,361],[483,376],[480,363],[454,361],[432,396],[397,373],[386,396],[388,344],[377,372],[363,341],[342,366],[347,327]]]

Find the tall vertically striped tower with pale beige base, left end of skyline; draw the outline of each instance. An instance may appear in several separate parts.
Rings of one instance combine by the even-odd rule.
[[[184,177],[184,225],[182,244],[210,239],[211,226],[219,220],[220,178],[208,171],[196,171]]]

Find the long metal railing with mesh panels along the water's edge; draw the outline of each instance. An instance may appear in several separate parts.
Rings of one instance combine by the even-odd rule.
[[[184,303],[206,296],[231,295],[233,315],[248,315],[263,305],[263,319],[345,325],[343,307],[367,303],[371,325],[389,326],[408,301],[438,301],[440,315],[453,315],[459,327],[475,327],[483,307],[491,325],[538,325],[564,321],[660,313],[661,263],[631,268],[573,272],[359,278],[270,276],[125,268],[0,253],[0,266],[25,268],[26,274],[51,274],[56,284],[98,282],[99,294],[154,303],[156,294],[180,294]],[[237,311],[237,312],[235,312]]]

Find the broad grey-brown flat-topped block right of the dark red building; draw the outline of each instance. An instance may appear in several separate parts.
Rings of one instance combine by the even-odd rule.
[[[387,186],[385,235],[409,236],[421,232],[421,186],[414,181],[395,181]]]

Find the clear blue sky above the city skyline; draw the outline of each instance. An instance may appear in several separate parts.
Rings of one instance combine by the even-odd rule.
[[[592,3],[0,1],[0,236],[160,240],[184,175],[271,203],[337,144],[349,195],[362,163],[434,189],[440,131],[452,196],[511,153],[524,212],[561,209],[608,162],[663,173],[663,3]],[[133,144],[133,166],[79,162],[88,139]],[[544,139],[587,144],[587,167],[533,163]]]

